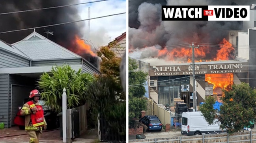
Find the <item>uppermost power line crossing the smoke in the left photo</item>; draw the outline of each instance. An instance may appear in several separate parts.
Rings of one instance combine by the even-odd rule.
[[[68,6],[80,5],[80,4],[91,4],[91,3],[103,2],[103,1],[108,1],[108,0],[99,0],[99,1],[94,1],[94,2],[83,2],[83,3],[79,3],[79,4],[60,5],[60,6],[45,7],[45,8],[40,8],[40,9],[24,10],[24,11],[13,11],[13,12],[8,12],[8,13],[0,13],[0,15],[13,14],[13,13],[24,13],[24,12],[29,12],[29,11],[38,11],[38,10],[45,10],[45,9],[54,9],[54,8],[59,8],[59,7],[68,7]]]

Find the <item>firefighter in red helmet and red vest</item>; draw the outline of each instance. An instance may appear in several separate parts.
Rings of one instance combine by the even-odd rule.
[[[25,116],[25,131],[30,137],[30,143],[39,143],[42,128],[45,130],[47,123],[43,115],[43,108],[39,105],[40,93],[34,89],[30,92],[29,101],[21,109],[21,115]]]

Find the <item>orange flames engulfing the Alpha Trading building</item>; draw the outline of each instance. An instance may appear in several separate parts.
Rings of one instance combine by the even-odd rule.
[[[145,48],[147,48],[147,46]],[[215,50],[216,52],[214,53],[214,49],[217,49],[217,47],[209,47],[207,45],[200,45],[199,48],[195,48],[195,62],[234,60],[235,58],[233,53],[235,49],[234,47],[232,47],[232,44],[228,42],[228,40],[226,40],[225,38],[223,38],[223,40],[220,42],[219,50]],[[208,57],[209,55],[215,56]],[[166,47],[164,47],[164,49],[158,51],[158,58],[161,58],[161,56],[167,56],[168,60],[176,63],[181,63],[182,61],[190,63],[192,62],[192,48],[181,47],[170,48],[170,50],[168,50],[166,49]],[[232,73],[206,74],[205,76],[205,80],[208,81],[208,83],[213,84],[213,89],[215,89],[216,87],[219,87],[221,89],[227,89],[228,87],[230,88],[234,81],[234,75]]]

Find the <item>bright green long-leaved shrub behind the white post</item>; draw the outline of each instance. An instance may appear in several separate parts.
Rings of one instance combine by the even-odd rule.
[[[82,73],[82,69],[76,72],[69,65],[64,65],[52,67],[49,73],[44,72],[37,82],[45,104],[56,112],[62,112],[63,89],[67,93],[67,109],[78,107],[84,105],[88,83],[93,80],[94,77]]]

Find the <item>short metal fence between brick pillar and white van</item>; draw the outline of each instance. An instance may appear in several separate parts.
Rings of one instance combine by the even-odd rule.
[[[181,130],[181,121],[182,121],[182,113],[174,113],[171,112],[171,130],[178,131]]]

